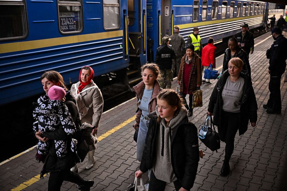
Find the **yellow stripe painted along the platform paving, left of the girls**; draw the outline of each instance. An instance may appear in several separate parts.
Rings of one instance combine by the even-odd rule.
[[[101,136],[98,136],[98,142],[100,142],[101,140],[103,140],[104,138],[107,138],[109,135],[113,134],[114,132],[118,131],[119,129],[125,127],[126,125],[129,125],[130,123],[133,123],[133,121],[135,120],[136,115],[132,116],[131,118],[125,120],[123,123],[117,125],[116,127],[114,127],[113,129],[108,130],[106,133],[102,134]],[[32,147],[34,149],[34,147]],[[32,148],[30,148],[32,150]],[[20,153],[21,154],[21,153]],[[19,155],[20,155],[19,154]],[[17,155],[16,155],[17,156]],[[16,158],[16,157],[15,157]],[[46,175],[44,175],[45,177]],[[34,177],[32,177],[31,179],[27,180],[26,182],[21,183],[19,186],[11,189],[11,191],[20,191],[23,190],[25,188],[27,188],[28,186],[34,184],[35,182],[40,180],[40,175],[36,175]]]

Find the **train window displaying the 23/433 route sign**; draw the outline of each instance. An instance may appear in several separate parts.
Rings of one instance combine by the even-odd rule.
[[[82,31],[82,1],[58,0],[59,29],[62,34],[78,33]]]

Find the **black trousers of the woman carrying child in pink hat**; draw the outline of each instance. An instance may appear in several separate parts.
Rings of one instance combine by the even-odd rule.
[[[48,181],[48,191],[60,191],[64,180],[79,185],[85,183],[84,179],[78,173],[71,172],[70,170],[51,172]]]

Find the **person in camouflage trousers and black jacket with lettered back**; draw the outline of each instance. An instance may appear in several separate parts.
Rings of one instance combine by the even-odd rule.
[[[176,54],[172,47],[168,46],[169,37],[162,38],[162,45],[157,48],[155,62],[159,65],[162,79],[159,80],[159,86],[163,89],[171,88],[172,64],[175,64]]]

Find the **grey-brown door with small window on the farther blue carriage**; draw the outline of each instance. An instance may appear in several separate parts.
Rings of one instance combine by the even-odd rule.
[[[165,35],[172,35],[170,31],[171,1],[161,0],[161,38]],[[161,40],[161,39],[160,39]]]

